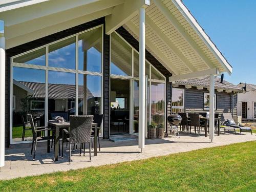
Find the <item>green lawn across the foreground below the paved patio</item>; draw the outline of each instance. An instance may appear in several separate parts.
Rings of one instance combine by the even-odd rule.
[[[0,191],[255,191],[255,157],[245,142],[0,181]]]

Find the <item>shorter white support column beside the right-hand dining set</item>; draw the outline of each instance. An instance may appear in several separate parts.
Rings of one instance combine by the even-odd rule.
[[[209,117],[209,136],[210,140],[214,139],[214,118],[215,118],[215,92],[214,92],[214,75],[210,75],[210,96],[209,96],[209,101],[210,101],[210,117]]]

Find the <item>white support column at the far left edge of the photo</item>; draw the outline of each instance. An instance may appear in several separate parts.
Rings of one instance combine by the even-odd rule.
[[[0,20],[0,168],[5,166],[5,36]]]

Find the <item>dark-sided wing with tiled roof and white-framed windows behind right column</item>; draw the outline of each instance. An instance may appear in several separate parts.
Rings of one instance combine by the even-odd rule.
[[[215,76],[215,112],[232,113],[237,116],[237,94],[242,89]],[[233,104],[232,104],[233,103]],[[209,111],[209,77],[175,81],[173,83],[172,112]]]

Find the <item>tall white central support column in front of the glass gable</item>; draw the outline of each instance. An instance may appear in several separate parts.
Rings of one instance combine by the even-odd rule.
[[[139,10],[139,148],[145,147],[145,8]]]

